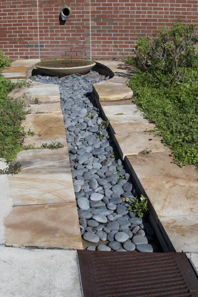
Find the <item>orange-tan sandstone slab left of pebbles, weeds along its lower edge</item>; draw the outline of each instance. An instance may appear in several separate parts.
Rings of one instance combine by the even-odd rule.
[[[28,114],[21,126],[26,132],[30,129],[35,133],[34,136],[26,135],[24,145],[39,147],[42,143],[61,142],[67,147],[62,113]]]

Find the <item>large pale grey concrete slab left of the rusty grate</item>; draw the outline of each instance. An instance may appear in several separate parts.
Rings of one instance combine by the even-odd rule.
[[[82,297],[77,252],[2,247],[1,297]]]

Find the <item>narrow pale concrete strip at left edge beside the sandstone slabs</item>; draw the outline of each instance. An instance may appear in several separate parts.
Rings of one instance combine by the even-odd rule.
[[[6,168],[6,163],[0,162],[0,169]],[[8,181],[7,181],[7,175],[0,175],[0,201],[1,201],[1,207],[0,207],[0,246],[2,244],[5,244],[6,238],[5,238],[5,228],[4,228],[4,217],[6,217],[9,214],[9,211],[12,209],[13,202],[12,199],[9,198],[9,191],[8,191]]]

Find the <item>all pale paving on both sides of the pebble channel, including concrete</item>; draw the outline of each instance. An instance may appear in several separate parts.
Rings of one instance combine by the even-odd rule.
[[[28,78],[38,61],[15,61],[3,75],[13,81]],[[94,84],[93,97],[104,118],[110,120],[113,137],[121,156],[126,155],[124,160],[134,183],[149,198],[156,234],[164,249],[188,252],[197,267],[197,172],[194,166],[180,168],[159,137],[145,134],[145,129],[153,129],[153,124],[137,111],[131,100],[132,90],[126,86],[126,79],[134,73],[133,67],[119,61],[96,61],[97,67],[101,74],[113,78]],[[37,92],[38,88],[44,88],[43,93]],[[7,246],[0,249],[3,271],[0,295],[81,297],[76,251],[71,249],[82,249],[82,240],[60,97],[57,97],[60,94],[46,93],[40,84],[28,91],[27,101],[39,98],[42,103],[27,107],[32,113],[22,125],[35,135],[27,136],[25,145],[40,147],[42,143],[60,141],[64,148],[21,151],[16,161],[21,162],[22,171],[15,176],[0,176],[0,245]],[[36,135],[39,133],[41,137]],[[138,154],[147,148],[152,153]],[[30,246],[42,249],[28,249]]]

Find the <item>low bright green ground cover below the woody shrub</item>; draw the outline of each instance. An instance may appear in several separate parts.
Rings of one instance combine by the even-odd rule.
[[[174,151],[176,162],[198,166],[198,69],[188,70],[185,82],[167,87],[151,84],[142,71],[128,86],[134,92],[134,103],[144,117],[156,124],[162,141]],[[188,77],[188,79],[187,79]]]

